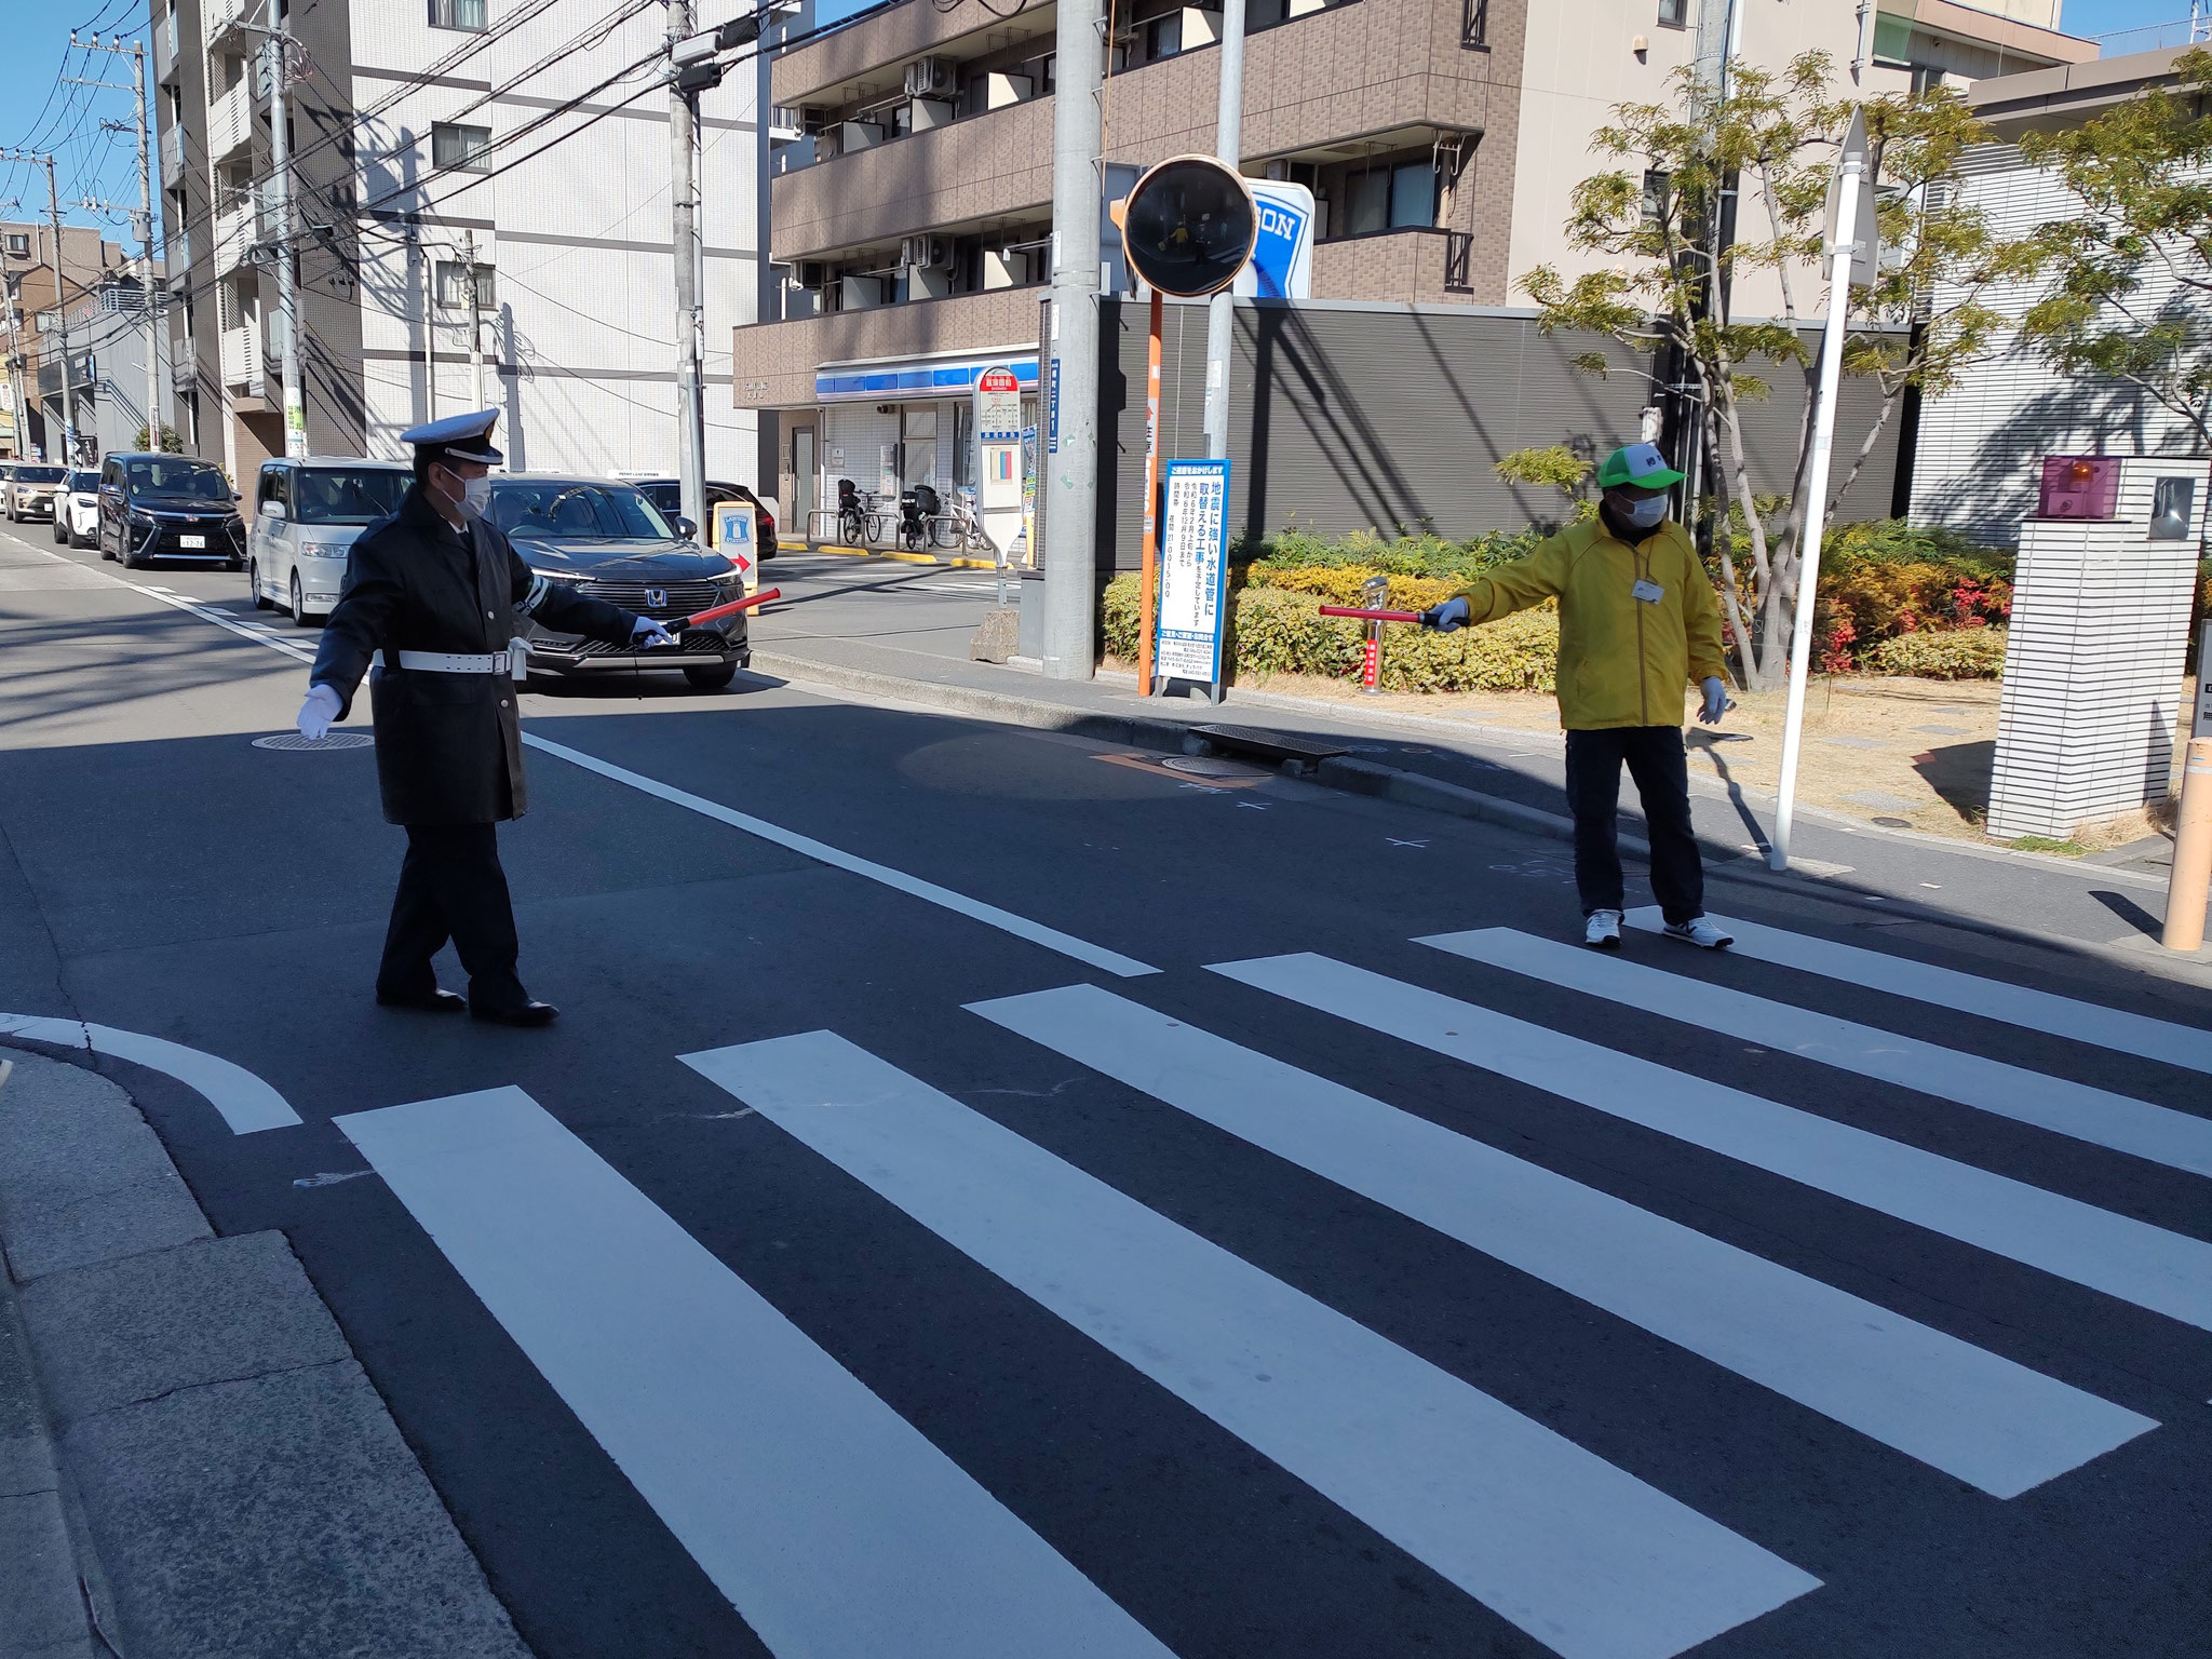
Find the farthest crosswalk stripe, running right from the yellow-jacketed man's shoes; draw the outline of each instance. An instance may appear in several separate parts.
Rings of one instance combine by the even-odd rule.
[[[2163,1060],[2170,1066],[2212,1073],[2212,1031],[2152,1020],[2126,1009],[2106,1009],[2097,1002],[2062,998],[2053,991],[2031,991],[2024,984],[1984,980],[1980,973],[1913,962],[1905,956],[1869,951],[1860,945],[1836,945],[1809,933],[1790,933],[1781,927],[1743,922],[1730,916],[1714,920],[1736,936],[1734,956],[1752,956],[1761,962],[1792,967],[1803,973],[1820,973],[1829,980],[1865,984],[1889,995],[1933,1002],[1960,1013],[1978,1013],[1984,1020],[2000,1020],[2008,1026],[2048,1031],[2055,1037],[2073,1037],[2097,1048],[2115,1048],[2124,1055]],[[1657,933],[1663,922],[1659,907],[1628,911],[1628,925]]]

